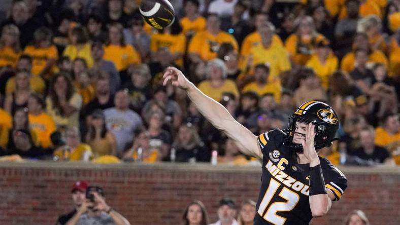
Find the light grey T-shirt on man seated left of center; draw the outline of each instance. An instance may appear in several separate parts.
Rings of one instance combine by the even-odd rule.
[[[120,155],[126,144],[134,139],[134,132],[142,126],[142,119],[135,111],[124,111],[114,108],[104,110],[107,129],[113,132],[117,142],[117,155]]]

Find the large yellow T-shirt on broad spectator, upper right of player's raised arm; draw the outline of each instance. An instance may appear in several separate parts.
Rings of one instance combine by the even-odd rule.
[[[280,45],[271,45],[268,49],[265,49],[262,45],[254,46],[250,49],[249,56],[253,57],[253,65],[250,73],[252,73],[254,66],[257,64],[269,64],[269,82],[280,82],[279,74],[291,69],[288,53]],[[245,70],[245,67],[242,66],[242,68]]]

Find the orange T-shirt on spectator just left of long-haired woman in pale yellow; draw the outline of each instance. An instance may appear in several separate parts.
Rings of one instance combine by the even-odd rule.
[[[29,126],[38,134],[39,143],[42,147],[50,147],[52,145],[50,135],[55,131],[55,123],[53,118],[42,113],[38,116],[29,114]]]

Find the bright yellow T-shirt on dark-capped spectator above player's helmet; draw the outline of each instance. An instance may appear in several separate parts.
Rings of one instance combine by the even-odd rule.
[[[326,59],[325,64],[321,64],[321,61],[319,61],[318,57],[313,55],[311,56],[311,59],[308,60],[306,65],[314,69],[314,72],[317,74],[321,80],[322,86],[326,90],[329,87],[330,75],[338,69],[339,60],[334,54],[330,54]]]

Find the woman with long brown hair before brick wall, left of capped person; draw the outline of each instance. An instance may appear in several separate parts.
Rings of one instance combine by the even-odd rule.
[[[194,200],[183,213],[184,225],[208,225],[208,215],[203,202]]]

